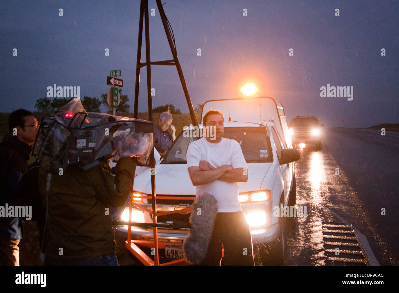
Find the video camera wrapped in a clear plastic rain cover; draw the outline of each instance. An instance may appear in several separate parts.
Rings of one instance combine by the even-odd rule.
[[[154,124],[150,121],[86,112],[71,98],[54,114],[43,118],[33,155],[50,173],[69,164],[85,166],[95,160],[137,157],[146,165],[153,148]]]

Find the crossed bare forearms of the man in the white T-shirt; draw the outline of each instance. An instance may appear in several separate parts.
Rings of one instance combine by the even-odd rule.
[[[188,168],[191,182],[194,186],[211,183],[215,180],[225,182],[247,182],[248,172],[244,168],[233,169],[231,165],[223,165],[216,169],[211,169],[207,161],[200,161],[199,167]]]

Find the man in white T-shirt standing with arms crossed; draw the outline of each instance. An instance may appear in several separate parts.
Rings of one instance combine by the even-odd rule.
[[[203,126],[213,128],[216,135],[211,137],[208,132],[192,142],[186,155],[196,195],[207,192],[217,201],[215,224],[201,265],[219,265],[222,244],[223,265],[254,265],[251,232],[238,201],[238,182],[248,180],[247,162],[238,142],[222,137],[221,112],[209,110],[203,117]]]

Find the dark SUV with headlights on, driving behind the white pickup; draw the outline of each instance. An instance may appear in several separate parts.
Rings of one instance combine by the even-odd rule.
[[[314,144],[317,150],[322,149],[321,127],[324,124],[320,124],[315,116],[296,116],[289,129],[292,144],[303,144],[301,147]]]

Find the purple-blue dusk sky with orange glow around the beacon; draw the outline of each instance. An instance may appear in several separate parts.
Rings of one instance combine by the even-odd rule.
[[[261,96],[284,105],[288,122],[314,115],[326,127],[399,123],[398,1],[164,2],[194,107],[236,98],[253,81]],[[156,14],[149,16],[151,60],[172,59],[156,2],[148,3]],[[133,112],[139,9],[138,0],[3,1],[0,112],[36,110],[53,84],[101,99],[110,70],[122,71]],[[172,103],[188,113],[176,67],[151,69],[154,107]],[[321,97],[327,84],[353,87],[353,100]],[[144,68],[139,111],[147,109]]]

